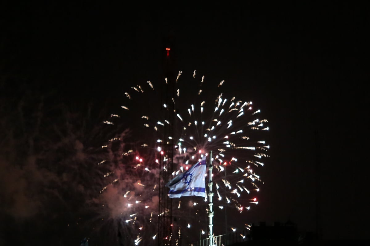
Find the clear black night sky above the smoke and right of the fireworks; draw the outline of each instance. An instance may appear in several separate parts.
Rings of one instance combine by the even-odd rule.
[[[323,238],[369,239],[364,6],[1,5],[1,118],[25,88],[38,95],[53,91],[55,102],[76,110],[91,103],[93,114],[109,114],[124,88],[160,77],[164,40],[171,37],[178,70],[225,80],[228,90],[258,102],[269,119],[271,157],[252,219],[290,219],[301,231],[315,231],[320,177]],[[5,232],[19,230],[12,226],[0,228],[5,242]]]

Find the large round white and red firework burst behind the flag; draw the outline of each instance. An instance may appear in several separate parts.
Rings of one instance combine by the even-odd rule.
[[[257,171],[264,166],[264,159],[268,157],[269,145],[264,139],[265,133],[269,129],[268,121],[262,118],[261,111],[254,108],[251,101],[240,100],[233,96],[227,97],[221,92],[215,93],[223,86],[223,80],[216,84],[212,93],[208,93],[202,89],[205,81],[204,76],[198,78],[196,71],[194,71],[191,78],[193,81],[182,82],[180,80],[181,74],[180,71],[175,79],[177,87],[174,98],[172,98],[174,107],[162,103],[159,108],[159,102],[158,107],[155,102],[150,101],[149,103],[149,98],[151,98],[149,94],[156,95],[161,88],[157,90],[153,83],[148,81],[126,91],[125,102],[121,107],[123,113],[112,114],[109,120],[104,121],[105,124],[112,127],[115,122],[122,119],[126,119],[126,121],[124,120],[126,124],[132,120],[136,125],[131,126],[131,136],[135,140],[140,139],[137,141],[139,145],[137,144],[138,147],[135,149],[128,144],[125,148],[117,149],[122,152],[119,153],[120,156],[134,160],[131,162],[135,163],[134,166],[130,165],[132,170],[136,171],[123,174],[122,171],[113,169],[111,172],[107,172],[107,176],[114,176],[116,182],[101,190],[101,193],[104,193],[105,189],[110,186],[116,187],[120,190],[117,195],[124,196],[120,199],[126,207],[124,212],[115,219],[124,222],[122,226],[129,226],[130,233],[133,230],[137,233],[134,244],[144,243],[145,240],[151,244],[153,240],[157,239],[155,230],[158,223],[158,163],[161,158],[165,162],[168,158],[160,146],[162,143],[168,142],[169,139],[173,141],[175,148],[172,160],[174,163],[173,176],[186,171],[192,164],[198,162],[203,156],[208,156],[208,153],[212,151],[212,163],[215,167],[212,177],[213,210],[215,211],[213,232],[215,235],[218,232],[229,233],[250,228],[245,221],[242,221],[241,225],[231,224],[232,219],[226,221],[226,218],[222,218],[221,221],[217,213],[225,214],[226,208],[229,212],[246,213],[252,206],[258,204],[257,193],[263,182]],[[181,85],[194,84],[194,80],[201,89],[196,89],[191,96],[188,96],[188,89],[182,93],[182,90],[179,89]],[[168,83],[167,79],[164,80],[163,84],[165,83]],[[181,98],[182,94],[184,94],[184,99]],[[154,96],[159,100],[158,97],[158,94],[156,97]],[[158,110],[155,110],[156,108]],[[171,108],[175,108],[174,114],[172,114],[174,119],[160,117],[163,115],[161,111],[171,110]],[[130,120],[128,121],[128,119]],[[137,125],[138,122],[141,122],[140,125]],[[169,124],[173,124],[173,135],[168,136],[169,139],[162,139],[164,136],[162,130]],[[110,142],[114,141],[117,139],[110,139]],[[107,148],[107,146],[104,145],[103,148]],[[141,156],[141,152],[145,157]],[[104,165],[104,160],[100,164]],[[139,177],[127,177],[127,175],[135,176],[138,173]],[[150,179],[146,179],[146,175]],[[136,186],[131,185],[137,190],[125,190],[129,187],[125,180],[137,183]],[[138,182],[138,180],[140,181]],[[120,186],[117,183],[125,183],[125,185]],[[124,198],[132,192],[134,194],[126,201]],[[208,228],[206,200],[207,198],[202,197],[173,198],[172,215],[175,218],[173,226],[176,226],[174,228],[176,235],[173,237],[176,243],[186,238],[186,231],[190,230],[193,235],[198,235],[198,239],[199,235],[203,234],[208,237],[206,233]],[[138,213],[142,214],[138,215]],[[146,222],[138,221],[137,218],[144,218]],[[150,225],[150,223],[154,225]],[[195,233],[194,230],[199,232]],[[147,238],[150,238],[151,242]]]

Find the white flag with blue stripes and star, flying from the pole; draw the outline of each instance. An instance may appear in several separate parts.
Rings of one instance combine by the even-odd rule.
[[[166,184],[169,188],[169,198],[198,196],[206,197],[206,157],[192,166],[189,170],[179,174]]]

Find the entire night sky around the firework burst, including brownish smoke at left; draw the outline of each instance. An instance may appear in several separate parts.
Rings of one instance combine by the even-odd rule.
[[[65,225],[84,201],[69,189],[100,185],[76,164],[93,157],[68,153],[81,142],[84,155],[96,154],[101,119],[126,88],[162,79],[168,43],[176,70],[225,80],[228,93],[258,103],[269,119],[270,158],[251,222],[290,220],[301,232],[318,222],[323,239],[369,239],[365,6],[0,8],[0,245],[78,245],[89,233]]]

